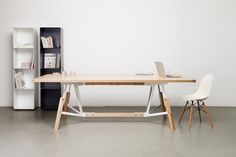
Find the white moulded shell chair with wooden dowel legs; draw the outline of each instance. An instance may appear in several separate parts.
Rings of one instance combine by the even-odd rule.
[[[183,99],[187,102],[185,104],[184,110],[181,113],[179,124],[183,118],[185,111],[189,110],[188,128],[191,128],[192,114],[198,110],[200,122],[202,122],[202,119],[201,119],[201,111],[202,111],[203,113],[207,115],[208,122],[213,127],[212,118],[204,103],[204,100],[206,100],[210,95],[212,81],[213,81],[213,75],[206,74],[202,78],[200,85],[198,87],[198,90],[194,94],[186,95],[183,97]]]

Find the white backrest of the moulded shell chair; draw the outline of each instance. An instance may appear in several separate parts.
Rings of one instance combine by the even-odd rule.
[[[196,94],[199,95],[202,99],[208,98],[211,92],[212,81],[213,81],[212,74],[204,75]]]

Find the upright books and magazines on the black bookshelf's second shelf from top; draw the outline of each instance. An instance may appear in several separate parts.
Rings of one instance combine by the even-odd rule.
[[[61,55],[59,53],[45,53],[44,68],[60,68]]]

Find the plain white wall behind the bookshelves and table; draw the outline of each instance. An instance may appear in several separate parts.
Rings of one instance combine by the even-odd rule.
[[[91,74],[155,72],[166,69],[200,79],[213,73],[208,100],[236,106],[235,0],[1,0],[0,106],[12,106],[13,27],[60,26],[66,69]],[[170,84],[173,105],[197,84]],[[86,105],[143,105],[145,87],[83,87]]]

